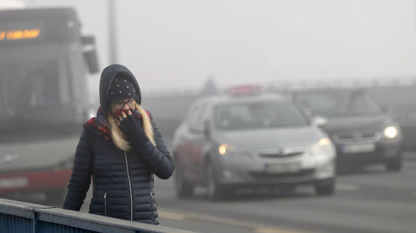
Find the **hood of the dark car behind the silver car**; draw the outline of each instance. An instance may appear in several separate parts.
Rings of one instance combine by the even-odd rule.
[[[381,131],[385,126],[394,124],[395,123],[388,116],[384,115],[343,116],[329,118],[327,125],[322,127],[322,130],[329,135],[333,135],[337,132],[345,131]]]

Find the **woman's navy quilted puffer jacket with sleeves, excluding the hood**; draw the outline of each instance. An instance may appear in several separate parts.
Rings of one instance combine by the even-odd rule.
[[[175,165],[155,122],[151,123],[157,146],[147,140],[139,149],[133,146],[128,152],[116,148],[111,139],[84,130],[76,148],[63,208],[80,210],[92,178],[90,214],[159,224],[153,174],[168,179]]]

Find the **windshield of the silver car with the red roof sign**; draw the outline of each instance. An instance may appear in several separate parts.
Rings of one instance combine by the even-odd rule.
[[[248,130],[300,127],[308,125],[306,117],[293,103],[257,102],[218,105],[214,110],[216,128]]]

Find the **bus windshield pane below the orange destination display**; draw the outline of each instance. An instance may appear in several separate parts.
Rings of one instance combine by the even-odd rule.
[[[39,57],[0,63],[0,130],[85,121],[83,77],[73,63]]]

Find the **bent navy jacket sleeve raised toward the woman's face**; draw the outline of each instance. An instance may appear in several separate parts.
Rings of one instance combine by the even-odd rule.
[[[133,139],[132,147],[141,155],[150,171],[157,175],[158,178],[166,180],[175,171],[175,164],[156,123],[153,120],[150,122],[152,123],[153,132],[155,132],[156,146],[153,146],[152,142],[145,135],[141,135],[141,137]]]

